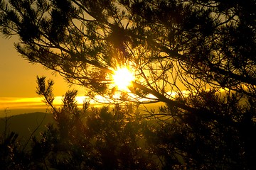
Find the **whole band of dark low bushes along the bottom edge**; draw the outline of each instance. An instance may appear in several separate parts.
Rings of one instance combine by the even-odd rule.
[[[204,92],[188,100],[201,113],[178,113],[171,120],[144,118],[132,103],[94,108],[75,101],[68,91],[62,108],[52,105],[53,81],[38,78],[38,94],[46,98],[55,120],[22,149],[11,132],[1,140],[5,169],[253,169],[255,122],[253,103],[239,105],[240,96]],[[49,86],[50,84],[50,86]],[[49,99],[51,98],[51,100]],[[213,109],[208,115],[206,108]],[[161,107],[170,112],[172,108]],[[213,116],[213,117],[211,117]],[[221,120],[216,121],[217,118]],[[233,121],[232,121],[233,120]]]

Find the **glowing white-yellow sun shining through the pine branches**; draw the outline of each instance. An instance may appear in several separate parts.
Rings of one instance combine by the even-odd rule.
[[[128,87],[132,85],[132,81],[134,79],[134,75],[126,67],[119,68],[114,71],[114,86],[117,86],[120,91],[127,91]]]

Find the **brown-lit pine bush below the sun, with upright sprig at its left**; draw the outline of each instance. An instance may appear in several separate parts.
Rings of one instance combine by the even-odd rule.
[[[33,140],[33,164],[45,169],[159,169],[144,142],[148,121],[132,104],[94,108],[85,101],[79,108],[77,91],[68,91],[57,109],[52,87],[53,81],[38,77],[37,93],[50,106],[55,124],[48,125],[41,140]]]

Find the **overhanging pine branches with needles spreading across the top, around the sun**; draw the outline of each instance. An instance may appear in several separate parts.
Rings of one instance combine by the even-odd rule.
[[[255,96],[253,7],[253,1],[1,1],[1,30],[20,36],[16,49],[30,62],[95,93],[111,94],[113,70],[129,65],[133,94],[188,111],[169,92],[213,86]]]

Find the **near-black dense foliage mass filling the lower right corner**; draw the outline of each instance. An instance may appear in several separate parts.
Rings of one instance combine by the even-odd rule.
[[[163,169],[255,169],[255,103],[241,106],[238,94],[223,98],[213,91],[186,100],[202,112],[177,113],[146,137]],[[222,120],[210,118],[206,108]]]

